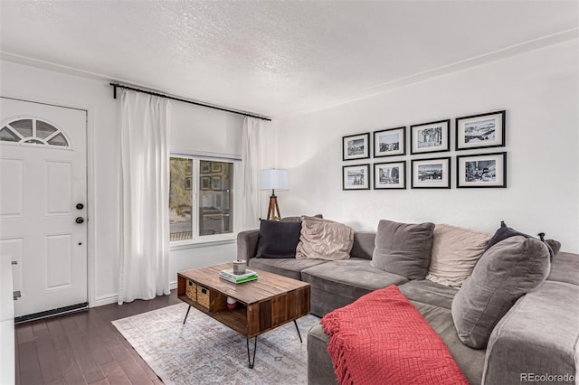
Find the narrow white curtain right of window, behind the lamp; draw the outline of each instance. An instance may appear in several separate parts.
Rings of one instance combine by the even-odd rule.
[[[241,230],[259,227],[262,123],[255,117],[243,120]]]

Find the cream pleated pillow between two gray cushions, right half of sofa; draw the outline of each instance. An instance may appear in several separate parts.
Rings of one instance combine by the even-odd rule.
[[[446,286],[462,286],[485,251],[490,237],[488,232],[437,224],[426,279]]]

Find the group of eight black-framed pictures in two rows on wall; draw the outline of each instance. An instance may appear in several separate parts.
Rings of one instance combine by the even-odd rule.
[[[342,160],[368,159],[368,163],[342,166],[342,190],[404,190],[408,168],[412,189],[451,189],[451,156],[418,157],[450,152],[451,132],[456,152],[479,150],[454,156],[456,187],[506,188],[507,152],[485,151],[505,146],[506,115],[501,110],[456,117],[453,131],[450,118],[412,125],[408,127],[411,158],[406,155],[406,127],[343,136]],[[385,162],[386,157],[392,160]]]

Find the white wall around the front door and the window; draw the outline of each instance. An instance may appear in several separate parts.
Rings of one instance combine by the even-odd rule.
[[[92,80],[0,61],[0,94],[89,111],[89,302],[117,302],[119,283],[119,99],[107,80]],[[173,150],[241,154],[242,117],[172,102]],[[233,260],[235,242],[171,251],[176,272]]]

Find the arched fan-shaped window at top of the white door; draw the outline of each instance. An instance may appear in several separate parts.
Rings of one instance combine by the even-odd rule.
[[[34,117],[19,117],[6,123],[0,128],[0,142],[19,145],[70,146],[69,140],[59,128]]]

